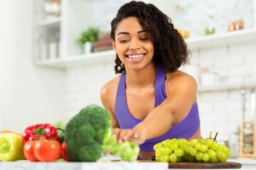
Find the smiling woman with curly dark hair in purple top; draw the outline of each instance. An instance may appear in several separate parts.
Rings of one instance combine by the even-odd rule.
[[[171,19],[152,4],[124,4],[111,23],[118,77],[105,84],[100,96],[110,112],[119,143],[140,145],[139,157],[149,159],[153,146],[166,139],[201,137],[197,84],[178,71],[188,50]]]

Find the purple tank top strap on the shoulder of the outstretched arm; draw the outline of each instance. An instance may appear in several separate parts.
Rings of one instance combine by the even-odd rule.
[[[165,91],[165,79],[166,72],[164,71],[164,67],[161,64],[158,64],[156,68],[156,81],[154,87],[155,107],[159,106],[167,97]]]

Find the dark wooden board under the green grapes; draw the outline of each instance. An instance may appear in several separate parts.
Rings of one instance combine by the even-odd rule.
[[[156,162],[150,160],[138,160],[136,162]],[[242,164],[238,162],[169,162],[169,169],[240,169]]]

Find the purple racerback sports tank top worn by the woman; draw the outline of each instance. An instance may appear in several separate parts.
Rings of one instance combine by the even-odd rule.
[[[132,129],[135,125],[142,122],[143,119],[134,118],[131,113],[129,113],[126,101],[125,93],[125,79],[126,72],[122,74],[119,79],[119,84],[117,88],[117,97],[114,106],[114,114],[118,120],[121,129]],[[155,105],[159,106],[166,99],[165,91],[165,71],[164,67],[160,64],[156,69],[156,81],[154,86],[155,94]],[[150,140],[146,140],[139,148],[144,152],[154,152],[154,145],[166,139],[172,138],[184,138],[188,140],[191,138],[198,130],[200,126],[198,105],[193,104],[191,111],[188,113],[186,118],[184,118],[180,123],[174,125],[168,132],[159,137],[154,137]],[[157,128],[157,125],[156,125]]]

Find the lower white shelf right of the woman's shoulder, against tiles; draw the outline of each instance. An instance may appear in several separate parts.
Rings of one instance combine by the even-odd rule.
[[[213,85],[199,85],[198,93],[206,93],[212,91],[227,91],[227,90],[240,90],[240,89],[255,89],[256,88],[256,80],[255,81],[242,81],[242,82],[234,82],[234,83],[220,83]]]

